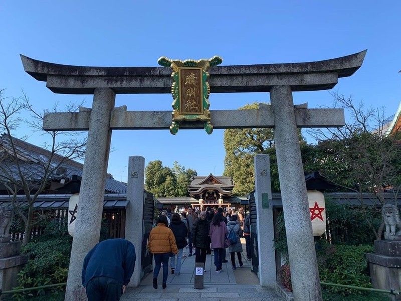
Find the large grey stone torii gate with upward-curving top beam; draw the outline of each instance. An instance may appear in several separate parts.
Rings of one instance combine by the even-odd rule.
[[[344,113],[342,109],[294,106],[292,92],[333,88],[338,78],[351,76],[361,66],[365,54],[366,50],[318,62],[209,69],[212,93],[270,92],[271,105],[261,105],[258,110],[211,110],[211,122],[214,128],[274,127],[295,300],[321,300],[297,127],[340,127],[344,125]],[[171,72],[165,67],[82,67],[38,61],[23,55],[21,59],[25,71],[37,80],[46,81],[54,93],[94,95],[91,109],[49,113],[43,124],[46,130],[88,130],[65,297],[85,300],[81,269],[86,253],[99,241],[111,131],[168,129],[171,123],[171,111],[114,108],[115,94],[171,93]],[[182,122],[180,128],[203,128],[203,122]],[[128,215],[127,212],[127,219]],[[140,249],[140,245],[135,247]],[[137,266],[140,261],[139,256]]]

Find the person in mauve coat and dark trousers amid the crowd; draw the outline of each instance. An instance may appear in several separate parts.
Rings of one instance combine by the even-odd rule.
[[[226,238],[227,228],[223,221],[223,216],[218,212],[213,216],[210,225],[209,236],[212,240],[212,249],[215,254],[216,272],[222,271],[223,257],[226,249],[224,248],[224,240]]]

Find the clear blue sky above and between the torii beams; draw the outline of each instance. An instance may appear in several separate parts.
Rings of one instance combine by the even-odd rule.
[[[290,63],[340,57],[367,49],[362,67],[332,90],[394,114],[401,100],[399,1],[2,1],[0,88],[30,97],[38,110],[90,95],[54,94],[24,72],[19,54],[83,66],[157,66],[219,55],[223,65]],[[171,110],[170,94],[117,95],[128,110]],[[268,93],[211,94],[211,109],[268,102]],[[330,106],[329,91],[295,92],[294,103]],[[224,130],[113,131],[108,172],[126,181],[129,156],[145,163],[178,161],[198,175],[224,171]],[[26,127],[16,136],[41,144]],[[192,141],[196,141],[193,143]]]

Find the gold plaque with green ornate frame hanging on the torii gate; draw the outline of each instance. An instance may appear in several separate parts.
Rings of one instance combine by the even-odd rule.
[[[222,58],[214,56],[209,60],[170,60],[161,57],[157,63],[164,67],[171,67],[171,77],[174,82],[171,86],[172,123],[170,132],[175,135],[181,121],[203,121],[208,134],[213,131],[210,121],[210,86],[208,83],[210,66],[217,66],[223,62]]]

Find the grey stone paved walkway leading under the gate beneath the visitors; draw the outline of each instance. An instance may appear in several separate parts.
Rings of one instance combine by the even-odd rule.
[[[245,245],[244,248],[245,250]],[[187,249],[185,250],[187,252]],[[243,256],[244,267],[233,271],[230,254],[227,253],[228,263],[223,263],[223,271],[216,273],[214,257],[207,255],[206,270],[204,274],[204,289],[194,289],[195,256],[183,258],[181,274],[167,278],[167,288],[161,288],[162,270],[158,276],[158,289],[152,287],[153,274],[149,273],[137,288],[127,288],[121,301],[127,300],[162,300],[162,301],[205,301],[231,300],[231,301],[281,301],[282,297],[275,290],[261,287],[257,276],[251,272],[251,262]],[[247,283],[247,284],[238,284]]]

